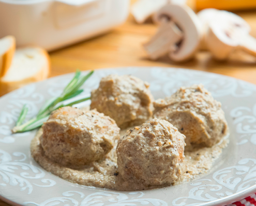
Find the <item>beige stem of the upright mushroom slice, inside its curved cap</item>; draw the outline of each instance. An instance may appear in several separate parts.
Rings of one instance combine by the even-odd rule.
[[[150,59],[156,60],[176,49],[175,44],[182,40],[183,33],[174,22],[163,21],[156,35],[144,48]]]

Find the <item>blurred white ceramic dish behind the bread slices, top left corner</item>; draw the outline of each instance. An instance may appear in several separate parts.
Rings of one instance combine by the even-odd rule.
[[[122,24],[130,0],[0,0],[0,38],[53,50]]]

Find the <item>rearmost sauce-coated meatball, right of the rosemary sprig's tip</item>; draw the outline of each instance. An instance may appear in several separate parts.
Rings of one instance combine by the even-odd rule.
[[[149,84],[129,75],[103,77],[91,99],[91,109],[110,116],[121,128],[144,123],[154,109]]]

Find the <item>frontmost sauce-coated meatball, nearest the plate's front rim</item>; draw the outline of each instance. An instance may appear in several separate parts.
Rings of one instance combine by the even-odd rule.
[[[119,174],[145,187],[174,183],[182,174],[184,139],[176,127],[157,118],[127,131],[116,149]]]

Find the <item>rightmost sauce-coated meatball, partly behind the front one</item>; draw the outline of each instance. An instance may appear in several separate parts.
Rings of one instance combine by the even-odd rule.
[[[221,103],[202,84],[182,87],[171,97],[156,100],[154,106],[154,117],[177,127],[187,145],[211,147],[228,133]]]

